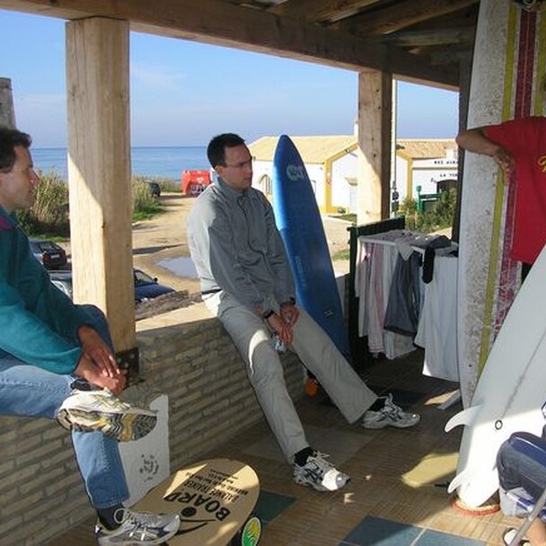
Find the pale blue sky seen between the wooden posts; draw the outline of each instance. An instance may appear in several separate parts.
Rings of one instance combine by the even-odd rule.
[[[65,22],[0,10],[0,36],[12,44],[0,77],[12,80],[18,128],[35,147],[65,146]],[[129,52],[131,145],[353,132],[356,72],[137,32]],[[397,97],[398,138],[456,135],[458,93],[400,82]]]

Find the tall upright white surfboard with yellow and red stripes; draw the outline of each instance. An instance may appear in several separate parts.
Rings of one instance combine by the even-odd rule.
[[[541,115],[545,51],[544,8],[529,13],[510,0],[481,0],[467,127]],[[508,257],[513,198],[491,158],[465,154],[457,279],[465,408],[519,288],[519,264]]]

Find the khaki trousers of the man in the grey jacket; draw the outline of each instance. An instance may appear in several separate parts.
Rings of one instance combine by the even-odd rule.
[[[273,308],[278,308],[277,304],[271,303]],[[222,322],[241,353],[269,427],[286,459],[293,462],[294,454],[308,447],[309,443],[286,389],[283,367],[277,351],[271,346],[265,321],[223,291],[207,297],[205,304]],[[354,423],[377,396],[317,323],[301,307],[299,310],[290,349],[321,383],[348,422]]]

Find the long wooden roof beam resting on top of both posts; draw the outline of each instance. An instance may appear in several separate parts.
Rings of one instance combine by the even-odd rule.
[[[219,0],[155,0],[153,3],[149,0],[56,0],[55,3],[0,0],[0,8],[69,19],[92,16],[125,19],[131,23],[132,30],[161,36],[245,48],[350,70],[374,68],[448,88],[458,86],[458,75],[453,70],[431,69],[403,51]]]

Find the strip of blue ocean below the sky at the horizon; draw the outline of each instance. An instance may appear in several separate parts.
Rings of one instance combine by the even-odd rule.
[[[34,168],[42,172],[57,172],[68,178],[66,148],[31,148]],[[158,176],[181,180],[181,172],[190,169],[209,169],[207,146],[173,146],[131,148],[134,175]]]

